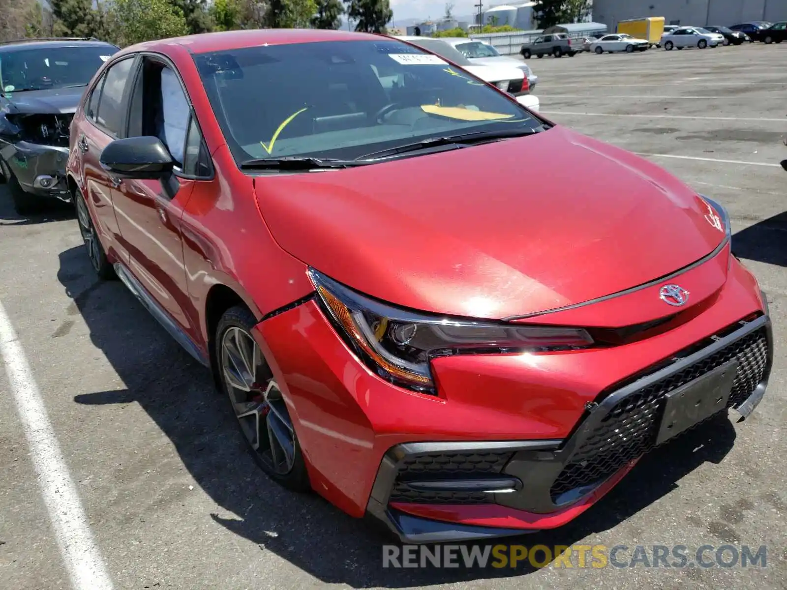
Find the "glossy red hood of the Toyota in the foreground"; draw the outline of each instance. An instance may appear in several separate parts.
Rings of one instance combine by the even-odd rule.
[[[273,237],[305,264],[394,304],[479,318],[639,286],[725,237],[678,179],[563,127],[366,167],[260,175],[254,186]]]

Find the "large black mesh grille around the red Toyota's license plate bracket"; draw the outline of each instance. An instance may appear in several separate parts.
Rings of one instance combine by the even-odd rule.
[[[652,449],[664,395],[734,357],[740,364],[728,405],[736,407],[743,403],[763,380],[767,354],[767,335],[765,328],[761,328],[683,371],[626,396],[604,416],[560,472],[550,490],[552,500],[564,492],[608,478],[630,460]]]

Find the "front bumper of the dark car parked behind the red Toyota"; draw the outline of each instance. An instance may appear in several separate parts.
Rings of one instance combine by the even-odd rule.
[[[37,197],[71,201],[65,179],[68,148],[37,143],[6,143],[0,150],[22,189]]]

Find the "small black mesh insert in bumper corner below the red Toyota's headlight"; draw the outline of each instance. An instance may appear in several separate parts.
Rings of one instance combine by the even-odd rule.
[[[404,459],[399,465],[391,502],[424,504],[493,503],[493,496],[481,492],[434,492],[410,488],[409,481],[471,479],[499,474],[512,452],[430,453]]]

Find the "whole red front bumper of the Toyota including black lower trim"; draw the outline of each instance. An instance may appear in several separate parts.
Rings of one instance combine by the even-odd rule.
[[[316,492],[412,542],[527,533],[571,521],[623,478],[656,445],[674,388],[734,357],[726,407],[746,415],[762,398],[773,346],[767,308],[735,260],[726,278],[712,278],[726,256],[682,275],[697,303],[678,326],[585,351],[443,357],[433,361],[437,396],[370,371],[313,299],[254,332]],[[634,325],[651,300],[646,289],[550,321],[584,314],[567,324]]]

